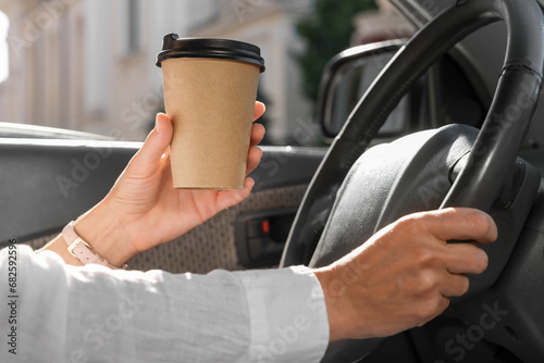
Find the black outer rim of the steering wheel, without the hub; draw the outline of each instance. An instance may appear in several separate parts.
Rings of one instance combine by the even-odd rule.
[[[534,0],[458,1],[397,52],[361,97],[313,176],[281,267],[310,262],[345,176],[415,82],[457,42],[500,20],[506,22],[508,42],[493,102],[469,161],[441,206],[490,209],[505,171],[516,160],[542,87],[544,21]],[[520,87],[526,100],[520,100]]]

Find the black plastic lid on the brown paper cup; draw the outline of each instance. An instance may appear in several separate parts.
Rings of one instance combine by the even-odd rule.
[[[169,58],[221,58],[257,64],[264,72],[264,60],[259,47],[228,39],[180,38],[177,34],[166,34],[162,51],[157,55],[157,66]]]

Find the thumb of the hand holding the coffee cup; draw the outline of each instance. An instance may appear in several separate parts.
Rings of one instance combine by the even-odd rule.
[[[172,122],[163,113],[157,114],[156,126],[149,133],[140,150],[134,155],[132,164],[140,167],[157,166],[162,154],[166,152],[172,140]]]

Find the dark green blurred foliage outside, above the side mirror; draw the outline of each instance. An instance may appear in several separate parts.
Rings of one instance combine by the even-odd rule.
[[[297,57],[302,72],[304,90],[313,102],[318,99],[319,82],[326,62],[349,47],[354,33],[354,15],[376,9],[374,0],[316,0],[314,13],[296,25],[307,42],[304,54]]]

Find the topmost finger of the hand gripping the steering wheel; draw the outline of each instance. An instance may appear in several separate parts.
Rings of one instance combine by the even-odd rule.
[[[497,239],[497,226],[493,218],[475,209],[448,208],[424,212],[420,217],[422,226],[443,241],[460,239],[486,243]]]

